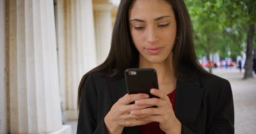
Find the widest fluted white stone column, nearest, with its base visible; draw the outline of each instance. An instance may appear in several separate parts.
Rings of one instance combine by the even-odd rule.
[[[52,0],[8,3],[9,132],[71,133],[61,123]]]

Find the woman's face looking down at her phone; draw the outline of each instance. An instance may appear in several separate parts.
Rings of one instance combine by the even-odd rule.
[[[129,11],[129,23],[139,60],[160,63],[172,57],[177,23],[166,1],[136,0]]]

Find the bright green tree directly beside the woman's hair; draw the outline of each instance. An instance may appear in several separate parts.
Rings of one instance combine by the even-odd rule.
[[[185,1],[193,22],[193,35],[197,57],[203,55],[203,51],[210,60],[210,54],[218,52],[222,42],[222,24],[225,14],[222,12],[220,1]],[[203,51],[202,51],[203,50]],[[209,66],[212,72],[212,66]]]

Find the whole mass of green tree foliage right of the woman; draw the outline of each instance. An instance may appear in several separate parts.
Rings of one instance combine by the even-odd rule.
[[[255,0],[185,0],[185,3],[193,23],[197,57],[207,56],[210,60],[209,55],[216,52],[221,59],[236,60],[241,56],[245,50],[243,44],[248,44],[249,25],[256,22]]]

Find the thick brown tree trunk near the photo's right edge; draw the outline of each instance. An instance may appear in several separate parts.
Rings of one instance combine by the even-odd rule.
[[[243,79],[253,78],[253,36],[254,36],[254,23],[249,25],[247,34],[247,51],[245,61],[245,74]]]

